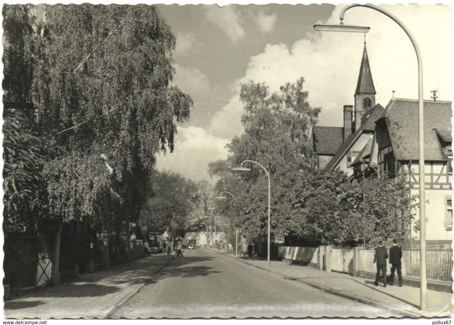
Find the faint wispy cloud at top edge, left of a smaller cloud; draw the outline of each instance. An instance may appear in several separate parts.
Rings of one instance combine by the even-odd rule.
[[[207,19],[223,30],[233,42],[237,42],[245,36],[239,23],[239,13],[232,6],[226,5],[221,8],[217,5],[210,5],[206,9]]]

